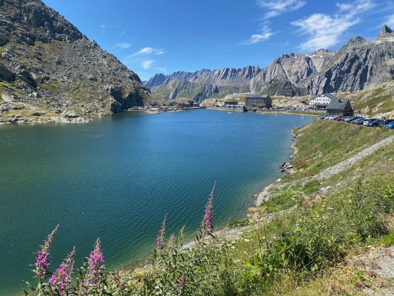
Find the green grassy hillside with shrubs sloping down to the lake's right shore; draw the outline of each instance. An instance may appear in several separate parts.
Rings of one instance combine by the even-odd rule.
[[[268,186],[247,219],[229,223],[243,228],[212,232],[213,189],[194,244],[183,247],[182,229],[165,235],[164,220],[151,259],[140,268],[97,273],[96,283],[83,289],[89,295],[245,296],[390,289],[393,282],[376,271],[379,262],[366,262],[376,252],[391,260],[394,252],[394,145],[381,144],[370,154],[365,149],[389,143],[393,131],[316,119],[295,135],[295,171]],[[81,269],[82,283],[93,281],[89,264]]]

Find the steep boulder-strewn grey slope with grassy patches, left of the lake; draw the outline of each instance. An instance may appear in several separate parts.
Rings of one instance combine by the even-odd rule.
[[[40,0],[0,0],[0,121],[86,121],[157,100]]]

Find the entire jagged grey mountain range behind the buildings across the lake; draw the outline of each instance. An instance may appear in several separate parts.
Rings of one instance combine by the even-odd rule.
[[[283,96],[369,89],[394,79],[394,33],[385,25],[375,40],[354,37],[338,52],[320,49],[311,54],[285,54],[264,69],[249,66],[238,70],[226,68],[195,73],[177,72],[167,76],[157,74],[144,84],[151,88],[153,94],[174,99],[179,90],[169,85],[173,79],[194,82],[205,89],[213,88],[216,90],[212,92],[215,98],[224,98],[229,87],[242,92]],[[242,85],[243,82],[245,84]],[[193,84],[193,89],[199,86]],[[165,88],[171,90],[165,91]],[[185,89],[183,92],[193,93]],[[198,97],[212,96],[210,92],[198,93]]]

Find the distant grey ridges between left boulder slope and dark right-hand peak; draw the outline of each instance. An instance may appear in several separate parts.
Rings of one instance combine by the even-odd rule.
[[[305,77],[317,75],[335,56],[336,51],[318,50],[308,54],[286,54],[276,58],[268,67],[248,66],[241,69],[224,68],[220,70],[200,70],[194,73],[175,72],[170,75],[156,74],[143,84],[151,88],[153,94],[163,99],[175,99],[180,93],[195,94],[192,98],[223,98],[231,89],[259,93],[268,89],[270,94],[293,96],[298,92],[297,84]],[[174,86],[179,80],[184,80],[182,89]],[[178,83],[171,83],[177,80]],[[197,83],[188,84],[187,82]],[[188,85],[189,89],[185,89]],[[160,86],[160,87],[159,87]],[[207,89],[208,92],[196,92],[197,89]],[[211,90],[214,91],[211,91]],[[169,96],[167,96],[169,94]]]

